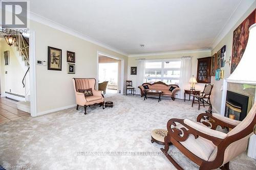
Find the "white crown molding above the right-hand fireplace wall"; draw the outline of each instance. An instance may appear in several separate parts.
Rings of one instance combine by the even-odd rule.
[[[237,8],[233,11],[223,28],[220,30],[214,41],[212,41],[211,48],[214,49],[221,40],[228,34],[228,32],[236,25],[239,19],[251,7],[255,0],[243,1],[238,4]]]

